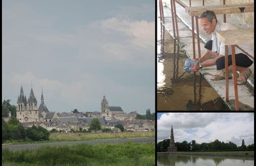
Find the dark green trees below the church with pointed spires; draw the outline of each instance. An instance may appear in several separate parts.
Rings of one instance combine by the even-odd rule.
[[[24,128],[19,120],[12,116],[8,122],[2,118],[2,144],[6,141],[38,141],[49,140],[50,132],[41,126],[33,125],[29,128]]]

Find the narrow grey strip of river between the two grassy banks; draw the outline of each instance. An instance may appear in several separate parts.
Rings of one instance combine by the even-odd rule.
[[[128,139],[101,139],[101,140],[79,140],[79,141],[66,141],[66,142],[49,142],[49,143],[36,143],[36,144],[17,144],[17,145],[2,145],[2,149],[8,148],[10,150],[21,150],[21,149],[34,149],[41,146],[65,146],[65,145],[74,145],[74,144],[116,144],[124,143],[128,141],[134,143],[146,143],[146,142],[155,142],[155,137],[143,137],[143,138],[128,138]]]

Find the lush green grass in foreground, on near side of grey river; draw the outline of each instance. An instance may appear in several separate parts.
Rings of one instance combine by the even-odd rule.
[[[40,149],[3,149],[2,165],[155,165],[155,144],[77,144]]]

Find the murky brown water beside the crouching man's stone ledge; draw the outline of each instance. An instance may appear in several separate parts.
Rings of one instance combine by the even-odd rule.
[[[157,110],[229,110],[200,72],[185,72],[186,59],[158,20]]]

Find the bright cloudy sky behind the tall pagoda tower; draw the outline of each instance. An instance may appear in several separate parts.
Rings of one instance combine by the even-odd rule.
[[[216,139],[241,146],[253,144],[253,113],[157,113],[157,142],[170,139],[171,126],[175,142],[196,140],[198,144]]]

